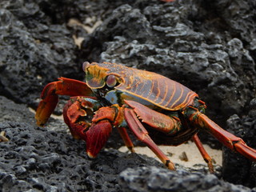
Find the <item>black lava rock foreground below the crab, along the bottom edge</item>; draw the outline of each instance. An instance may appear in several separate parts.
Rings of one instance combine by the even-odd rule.
[[[22,122],[1,122],[0,190],[6,191],[251,191],[202,174],[161,168],[138,154],[102,150],[89,159],[70,134]],[[157,167],[156,167],[157,166]],[[130,168],[128,168],[130,167]]]

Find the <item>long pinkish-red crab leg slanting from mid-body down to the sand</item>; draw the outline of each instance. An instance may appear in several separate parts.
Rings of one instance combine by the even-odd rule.
[[[154,141],[150,138],[148,132],[146,131],[145,127],[142,126],[142,123],[138,120],[134,110],[130,110],[126,108],[124,110],[126,122],[130,127],[130,130],[136,135],[136,137],[145,142],[150,150],[154,152],[158,156],[158,158],[170,169],[175,170],[174,163],[170,162],[170,159],[166,157],[166,155],[158,148],[158,146],[154,143]]]

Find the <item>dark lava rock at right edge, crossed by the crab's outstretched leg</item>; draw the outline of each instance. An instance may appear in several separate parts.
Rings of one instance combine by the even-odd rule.
[[[256,148],[256,99],[250,102],[250,112],[248,115],[239,118],[237,114],[228,119],[228,131],[243,138],[248,146]],[[256,186],[255,163],[251,162],[241,154],[237,154],[229,149],[223,149],[223,178],[235,184],[246,186]]]

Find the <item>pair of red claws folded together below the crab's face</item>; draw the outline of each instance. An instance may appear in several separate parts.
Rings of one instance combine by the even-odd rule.
[[[94,114],[94,111],[97,111]],[[97,98],[71,97],[63,109],[63,117],[74,138],[86,141],[86,152],[95,158],[112,131],[116,111],[102,107]]]

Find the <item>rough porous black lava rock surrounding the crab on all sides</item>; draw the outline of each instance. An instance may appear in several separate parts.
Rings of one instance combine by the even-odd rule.
[[[118,62],[190,87],[214,122],[256,148],[255,12],[254,0],[2,0],[0,130],[10,142],[0,142],[0,191],[255,190],[256,165],[230,150],[218,178],[109,149],[118,136],[90,160],[61,120],[39,128],[28,108],[46,83],[83,80],[82,62]]]

